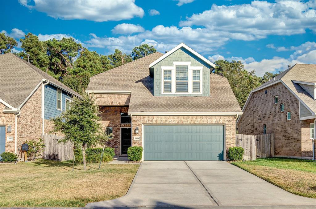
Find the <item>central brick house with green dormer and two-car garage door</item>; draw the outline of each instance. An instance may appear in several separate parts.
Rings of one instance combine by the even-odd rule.
[[[113,134],[108,146],[143,146],[143,160],[226,160],[242,111],[214,67],[182,43],[93,76],[87,92]]]

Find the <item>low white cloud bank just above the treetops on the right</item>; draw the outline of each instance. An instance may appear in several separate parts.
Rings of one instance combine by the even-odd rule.
[[[269,45],[269,44],[268,44]],[[270,46],[271,47],[271,46]],[[273,46],[274,47],[274,46]],[[252,57],[243,59],[241,57],[227,57],[222,55],[209,56],[208,59],[211,62],[216,60],[240,60],[245,69],[248,71],[256,70],[256,75],[263,76],[265,72],[278,72],[287,69],[287,65],[295,65],[296,63],[316,64],[316,43],[306,42],[300,46],[291,46],[291,50],[295,52],[289,56],[289,58],[273,57],[272,59],[263,59],[261,61],[255,61]]]

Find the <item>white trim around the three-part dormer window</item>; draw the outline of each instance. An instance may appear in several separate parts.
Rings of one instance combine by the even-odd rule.
[[[187,65],[188,66],[188,92],[176,92],[176,65]],[[164,70],[171,70],[171,92],[164,92]],[[200,70],[200,92],[192,92],[192,70]],[[203,94],[203,67],[202,66],[191,66],[191,62],[174,61],[173,66],[161,66],[161,94],[191,94],[199,95]]]

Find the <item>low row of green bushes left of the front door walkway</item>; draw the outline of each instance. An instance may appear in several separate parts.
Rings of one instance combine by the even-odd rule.
[[[87,163],[99,163],[101,159],[103,148],[87,148],[86,149],[86,162]],[[81,149],[75,149],[75,162],[76,163],[83,163],[83,156]],[[114,149],[110,147],[106,147],[104,149],[102,162],[109,162],[113,160],[114,157]]]

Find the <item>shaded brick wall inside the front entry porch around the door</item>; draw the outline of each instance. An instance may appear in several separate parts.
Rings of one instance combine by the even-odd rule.
[[[100,123],[103,131],[106,127],[113,128],[113,138],[107,142],[108,147],[114,148],[115,154],[120,154],[121,127],[131,127],[131,124],[121,124],[121,113],[127,113],[128,107],[103,106],[100,109]]]

